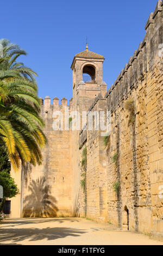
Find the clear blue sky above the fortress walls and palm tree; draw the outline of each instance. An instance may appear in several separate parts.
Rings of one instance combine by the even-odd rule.
[[[8,0],[1,1],[0,38],[28,52],[21,58],[34,69],[39,96],[72,97],[76,53],[89,50],[105,57],[108,88],[143,40],[148,16],[157,0]]]

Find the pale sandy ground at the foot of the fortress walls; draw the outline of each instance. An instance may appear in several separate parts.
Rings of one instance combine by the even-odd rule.
[[[0,224],[0,245],[163,245],[148,236],[82,218],[13,218]]]

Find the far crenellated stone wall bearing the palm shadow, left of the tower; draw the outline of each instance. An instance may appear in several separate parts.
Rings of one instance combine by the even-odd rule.
[[[72,214],[72,164],[70,131],[53,130],[53,112],[64,115],[67,100],[47,96],[42,100],[41,116],[45,121],[48,144],[42,150],[43,164],[27,166],[22,177],[22,217],[56,217]],[[65,120],[65,119],[64,119]],[[60,126],[65,124],[60,124]]]

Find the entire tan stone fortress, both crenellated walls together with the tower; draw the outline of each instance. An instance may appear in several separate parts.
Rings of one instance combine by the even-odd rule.
[[[42,151],[42,166],[26,166],[17,178],[21,194],[17,203],[11,199],[11,209],[17,204],[21,217],[80,216],[163,237],[162,10],[159,0],[143,42],[108,92],[102,80],[103,56],[87,58],[82,53],[76,54],[71,67],[70,106],[65,98],[61,105],[56,97],[53,105],[49,97],[42,100],[48,144]],[[96,68],[95,83],[81,81],[83,66],[89,63]],[[134,114],[126,107],[129,102]],[[64,115],[65,106],[80,113],[110,111],[106,147],[101,130],[54,131],[53,112]],[[80,180],[85,147],[84,190]],[[11,217],[18,217],[14,210]]]

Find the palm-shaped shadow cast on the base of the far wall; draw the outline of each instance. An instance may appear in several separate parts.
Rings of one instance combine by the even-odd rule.
[[[45,177],[30,181],[28,194],[23,200],[23,217],[56,217],[57,200],[49,193]]]

